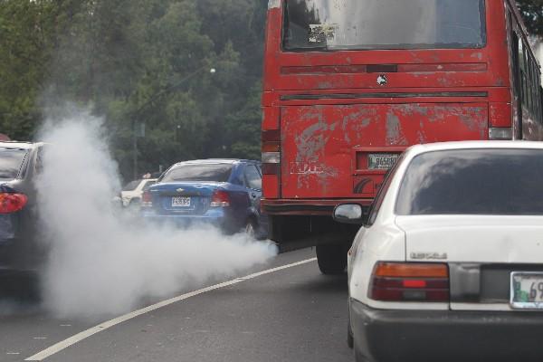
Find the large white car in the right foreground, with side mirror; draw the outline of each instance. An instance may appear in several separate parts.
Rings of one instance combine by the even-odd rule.
[[[363,224],[360,205],[338,221]],[[348,256],[357,362],[542,361],[543,143],[405,151]]]

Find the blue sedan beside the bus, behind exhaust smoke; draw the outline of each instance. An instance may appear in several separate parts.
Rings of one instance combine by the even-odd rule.
[[[143,194],[141,210],[150,221],[214,224],[225,233],[264,239],[267,218],[261,214],[262,171],[258,161],[205,159],[170,167]]]

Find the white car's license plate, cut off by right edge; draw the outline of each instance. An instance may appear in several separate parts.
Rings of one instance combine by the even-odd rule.
[[[543,272],[511,273],[511,307],[543,310]]]

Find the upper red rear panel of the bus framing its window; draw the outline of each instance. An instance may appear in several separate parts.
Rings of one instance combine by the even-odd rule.
[[[500,2],[486,2],[487,44],[481,49],[284,52],[281,24],[282,8],[269,10],[264,91],[381,89],[376,82],[381,72],[364,68],[376,64],[398,66],[398,71],[387,74],[386,88],[510,87],[509,45],[504,42],[505,11]]]

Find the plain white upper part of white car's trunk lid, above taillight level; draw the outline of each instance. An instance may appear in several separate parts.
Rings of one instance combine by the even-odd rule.
[[[408,262],[540,263],[543,216],[398,216]]]

